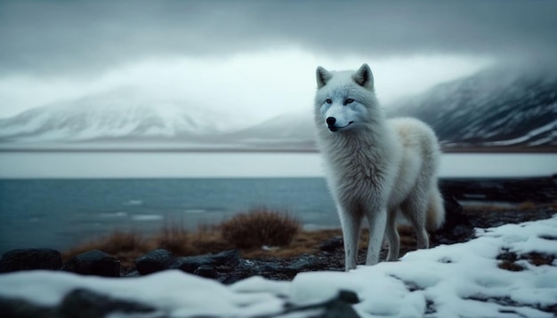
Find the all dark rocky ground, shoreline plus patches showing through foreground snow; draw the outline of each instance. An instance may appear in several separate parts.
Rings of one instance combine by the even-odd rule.
[[[456,179],[442,180],[440,187],[445,195],[447,219],[444,227],[431,234],[431,246],[468,242],[476,236],[476,228],[499,227],[525,221],[550,219],[557,214],[557,178],[537,179]],[[472,200],[472,201],[471,201]],[[496,203],[494,203],[496,202]],[[463,203],[463,204],[461,204]],[[479,204],[480,203],[480,204]],[[500,204],[505,203],[505,204]],[[520,203],[520,204],[519,204]],[[365,235],[365,234],[364,234]],[[400,227],[400,254],[415,250],[416,241],[410,227]],[[553,242],[554,236],[540,236]],[[366,248],[359,250],[359,264],[365,261]],[[383,249],[381,258],[386,257]],[[0,260],[0,273],[12,273],[30,269],[51,270],[52,274],[74,273],[78,277],[158,277],[189,273],[191,277],[201,276],[228,286],[249,285],[249,280],[261,276],[268,282],[292,281],[303,272],[332,271],[343,272],[343,238],[335,235],[320,243],[312,253],[303,253],[291,258],[242,258],[240,250],[224,250],[197,256],[173,255],[168,250],[151,250],[135,258],[132,269],[123,268],[120,260],[101,250],[89,250],[62,261],[61,252],[51,249],[11,250]],[[497,256],[499,268],[520,272],[525,264],[534,266],[554,266],[557,255],[528,253],[519,255],[503,250]],[[169,271],[170,270],[170,271]],[[174,270],[174,271],[173,271]],[[27,272],[38,273],[38,272]],[[309,273],[308,273],[309,274]],[[339,273],[340,274],[340,273]],[[3,275],[0,274],[0,277]],[[188,276],[175,279],[190,280]],[[55,280],[55,279],[54,279]],[[252,281],[249,281],[252,282]],[[418,287],[407,286],[408,290]],[[418,289],[419,290],[419,289]],[[477,301],[520,306],[505,299],[471,298]],[[279,297],[280,298],[280,297]],[[350,290],[341,290],[334,298],[311,306],[286,303],[279,314],[265,317],[282,317],[285,314],[314,317],[358,317],[352,304],[359,303],[358,295]],[[425,314],[434,314],[435,306],[426,302]],[[510,305],[509,305],[510,304]],[[533,306],[547,314],[557,314],[554,306]],[[125,316],[166,317],[160,309],[141,302],[111,298],[93,290],[72,290],[58,306],[41,306],[20,298],[0,298],[0,312],[12,317],[105,317],[114,313]],[[319,313],[319,314],[316,314]],[[216,316],[215,316],[216,317]]]

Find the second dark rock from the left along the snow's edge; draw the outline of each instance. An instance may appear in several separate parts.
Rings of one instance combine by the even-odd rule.
[[[89,250],[70,258],[63,271],[105,277],[120,276],[120,261],[101,250]]]

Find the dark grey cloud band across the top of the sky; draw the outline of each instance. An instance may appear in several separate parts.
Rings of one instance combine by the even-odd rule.
[[[0,76],[302,47],[553,60],[555,1],[2,1]]]

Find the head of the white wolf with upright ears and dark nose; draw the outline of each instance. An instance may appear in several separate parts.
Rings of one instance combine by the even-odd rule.
[[[378,107],[374,77],[367,64],[356,72],[329,72],[318,67],[316,75],[315,118],[318,126],[337,132],[373,123]]]

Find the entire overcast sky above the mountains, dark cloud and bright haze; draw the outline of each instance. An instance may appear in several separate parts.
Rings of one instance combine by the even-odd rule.
[[[318,65],[364,62],[389,104],[553,61],[556,31],[557,1],[0,0],[0,118],[133,87],[262,120],[311,111]]]

